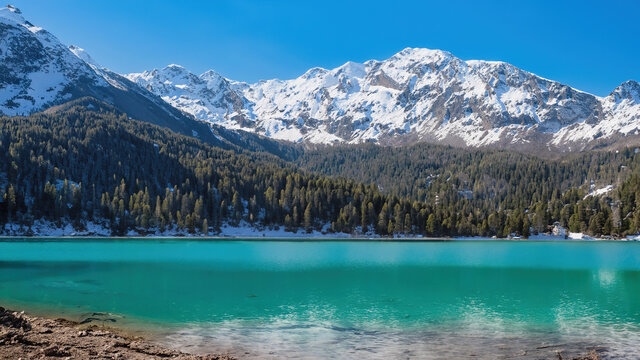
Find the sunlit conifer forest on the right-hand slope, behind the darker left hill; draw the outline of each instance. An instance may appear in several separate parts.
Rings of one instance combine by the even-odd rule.
[[[437,204],[434,222],[445,233],[451,223],[458,233],[471,228],[472,234],[485,235],[488,228],[498,236],[526,236],[530,226],[545,231],[555,222],[592,235],[640,230],[633,220],[640,203],[631,199],[639,189],[628,180],[640,173],[635,148],[550,160],[490,149],[362,144],[308,150],[295,162],[324,175],[375,183],[385,194]],[[616,190],[586,196],[609,184]],[[447,215],[461,213],[468,221]],[[471,216],[475,213],[479,218]]]

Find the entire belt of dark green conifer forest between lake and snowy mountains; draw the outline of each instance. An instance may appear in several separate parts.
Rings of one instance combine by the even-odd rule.
[[[640,229],[632,151],[562,163],[427,146],[402,150],[410,156],[400,160],[405,158],[386,149],[306,152],[297,161],[313,170],[307,172],[270,154],[213,147],[115,111],[75,106],[4,117],[0,225],[28,228],[45,219],[80,229],[91,220],[116,235],[167,229],[211,234],[224,223],[242,222],[429,236],[527,236],[556,221],[597,235]],[[626,170],[620,170],[623,159]],[[366,176],[360,173],[365,168]],[[627,180],[609,197],[585,197],[579,188],[592,176],[606,181],[625,171]]]

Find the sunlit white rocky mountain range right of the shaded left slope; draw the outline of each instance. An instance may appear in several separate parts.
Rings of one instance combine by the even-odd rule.
[[[384,61],[236,82],[178,65],[126,75],[199,119],[311,143],[582,150],[640,131],[638,83],[601,98],[513,65],[407,48]]]

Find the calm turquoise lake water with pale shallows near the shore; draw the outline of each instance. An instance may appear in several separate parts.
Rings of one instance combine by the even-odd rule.
[[[640,243],[4,240],[0,305],[250,359],[634,358]]]

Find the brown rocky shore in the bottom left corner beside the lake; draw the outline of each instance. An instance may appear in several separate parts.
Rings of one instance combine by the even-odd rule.
[[[191,355],[96,325],[46,319],[0,307],[0,359],[232,360]]]

